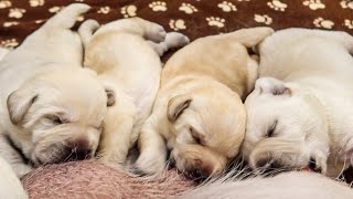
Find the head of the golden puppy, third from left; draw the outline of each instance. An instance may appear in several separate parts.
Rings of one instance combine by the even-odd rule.
[[[246,112],[228,88],[202,87],[168,103],[167,140],[179,170],[192,178],[218,175],[244,138]]]

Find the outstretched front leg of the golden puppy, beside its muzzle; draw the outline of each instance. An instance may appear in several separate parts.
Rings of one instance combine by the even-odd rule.
[[[138,140],[140,156],[136,168],[143,174],[153,175],[163,170],[167,160],[164,138],[150,123],[151,117],[143,124]]]

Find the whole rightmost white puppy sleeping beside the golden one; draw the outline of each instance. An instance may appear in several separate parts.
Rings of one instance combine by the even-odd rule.
[[[243,144],[254,169],[336,176],[344,168],[328,163],[353,164],[352,52],[353,36],[334,31],[288,29],[260,44]]]

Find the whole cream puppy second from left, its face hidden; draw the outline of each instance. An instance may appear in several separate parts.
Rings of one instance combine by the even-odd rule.
[[[89,20],[78,30],[85,44],[84,65],[98,73],[108,92],[98,156],[107,163],[125,164],[152,109],[162,70],[160,56],[185,45],[189,39],[165,33],[161,25],[139,18],[98,27]]]

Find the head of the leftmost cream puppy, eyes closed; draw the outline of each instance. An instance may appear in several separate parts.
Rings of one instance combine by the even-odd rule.
[[[94,155],[106,113],[107,95],[94,72],[58,69],[43,72],[8,97],[13,142],[34,165]]]

